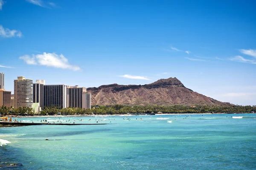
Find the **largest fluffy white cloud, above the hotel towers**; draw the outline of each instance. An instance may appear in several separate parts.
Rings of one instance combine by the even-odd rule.
[[[48,67],[70,69],[73,71],[81,70],[77,65],[70,65],[68,59],[62,54],[58,55],[55,53],[44,52],[43,54],[33,54],[32,57],[24,55],[19,57],[19,59],[23,59],[29,65],[45,65]]]

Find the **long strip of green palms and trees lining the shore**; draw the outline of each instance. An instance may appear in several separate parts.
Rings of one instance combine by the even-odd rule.
[[[0,107],[0,114],[16,116],[37,116],[37,115],[78,115],[78,114],[151,114],[151,113],[256,113],[256,105],[147,105],[147,106],[129,106],[129,105],[94,105],[92,109],[83,108],[58,108],[56,106],[45,107],[40,113],[34,113],[32,108],[7,108]]]

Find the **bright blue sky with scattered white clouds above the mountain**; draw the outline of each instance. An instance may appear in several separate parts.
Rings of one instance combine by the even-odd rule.
[[[144,85],[177,77],[256,105],[254,0],[0,0],[0,72],[47,84]]]

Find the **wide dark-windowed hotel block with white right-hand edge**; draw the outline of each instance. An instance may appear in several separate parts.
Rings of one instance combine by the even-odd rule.
[[[44,106],[67,108],[67,85],[44,85]]]

